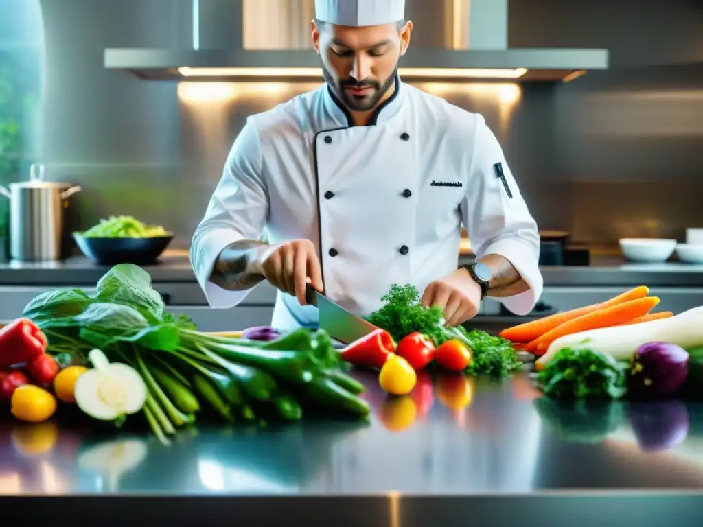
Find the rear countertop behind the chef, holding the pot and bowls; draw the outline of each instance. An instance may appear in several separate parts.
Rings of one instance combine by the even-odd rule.
[[[461,256],[460,263],[471,261]],[[543,266],[548,286],[703,286],[703,265],[686,263],[628,263],[617,256],[593,256],[590,266]],[[159,263],[146,266],[155,282],[195,282],[188,254],[166,252]],[[49,263],[0,263],[0,285],[94,285],[107,271],[83,256]]]

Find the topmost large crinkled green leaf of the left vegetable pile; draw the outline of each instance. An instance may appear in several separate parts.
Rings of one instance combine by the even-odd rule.
[[[164,321],[165,306],[161,295],[151,287],[149,273],[132,263],[120,263],[98,281],[98,302],[130,306],[150,323]]]

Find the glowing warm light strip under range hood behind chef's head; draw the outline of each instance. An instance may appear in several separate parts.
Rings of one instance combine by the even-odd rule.
[[[322,77],[317,67],[179,67],[183,77]],[[527,70],[491,70],[451,67],[401,67],[398,72],[406,78],[434,77],[437,79],[518,79]]]

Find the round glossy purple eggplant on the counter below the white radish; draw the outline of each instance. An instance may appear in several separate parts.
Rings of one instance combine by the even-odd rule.
[[[634,396],[669,396],[688,375],[688,351],[669,342],[648,342],[632,358],[628,378]]]

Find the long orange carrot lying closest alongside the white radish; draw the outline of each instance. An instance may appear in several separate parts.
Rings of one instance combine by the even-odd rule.
[[[541,337],[527,344],[525,350],[534,352],[537,351],[540,344],[551,344],[559,337],[564,337],[565,335],[628,322],[634,318],[646,315],[657,304],[659,304],[659,299],[657,297],[645,297],[593,311],[593,313],[588,313],[588,315],[583,315],[579,318],[574,318],[574,320],[569,320],[569,322],[565,322],[562,325],[558,325],[553,330],[546,332]]]

